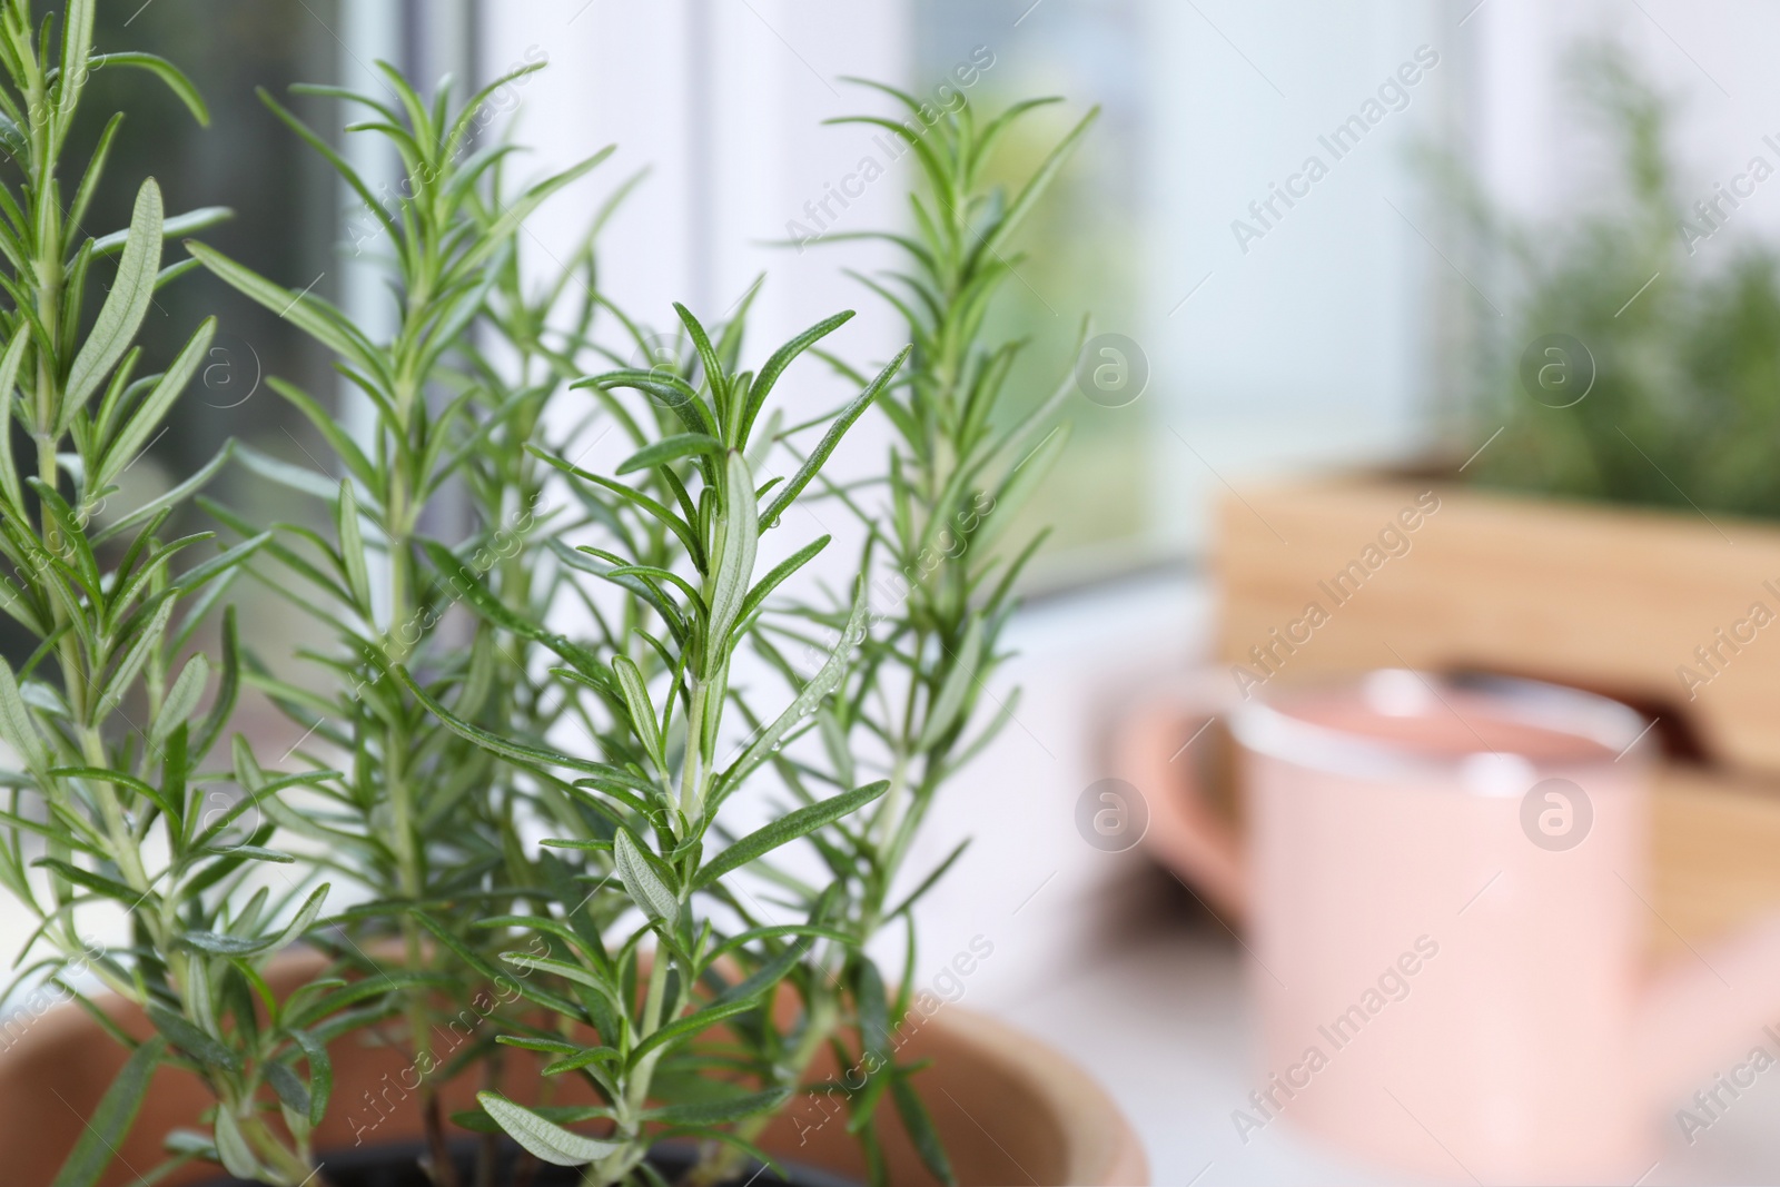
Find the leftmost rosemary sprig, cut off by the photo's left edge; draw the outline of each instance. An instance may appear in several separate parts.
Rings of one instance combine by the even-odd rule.
[[[0,737],[23,767],[4,779],[0,883],[41,920],[20,959],[48,950],[21,979],[57,979],[134,1048],[57,1183],[98,1180],[157,1064],[171,1062],[215,1098],[210,1132],[187,1135],[176,1157],[295,1185],[312,1176],[310,1130],[326,1107],[328,1062],[315,1036],[331,1009],[262,1000],[262,973],[315,920],[328,886],[297,879],[274,897],[255,879],[290,861],[267,847],[263,812],[308,776],[267,778],[239,737],[233,795],[230,772],[205,767],[239,687],[233,616],[222,619],[219,666],[192,650],[265,537],[214,553],[208,534],[164,536],[228,448],[176,488],[117,505],[125,472],[164,431],[215,329],[214,319],[203,322],[164,372],[137,375],[134,340],[155,294],[194,267],[162,267],[164,238],[228,212],[166,217],[148,180],[126,231],[87,231],[123,119],[105,125],[73,196],[64,194],[69,130],[94,69],[146,69],[208,121],[173,64],[94,53],[93,20],[93,0],[71,0],[57,37],[55,18],[34,20],[28,0],[0,5],[0,149],[16,167],[0,187],[0,609],[37,642],[21,664],[0,666]],[[94,269],[112,274],[85,326]],[[14,452],[20,436],[34,457]],[[32,860],[27,838],[44,856]],[[94,938],[105,909],[128,920],[128,941]],[[141,1007],[155,1038],[126,1036],[73,986],[77,973]],[[303,1062],[306,1075],[295,1071]],[[272,1098],[283,1128],[269,1123]]]

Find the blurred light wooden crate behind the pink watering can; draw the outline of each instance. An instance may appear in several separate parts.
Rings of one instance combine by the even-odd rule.
[[[1654,943],[1780,908],[1780,529],[1326,479],[1223,500],[1214,575],[1244,687],[1483,669],[1654,714],[1691,760],[1657,788]]]

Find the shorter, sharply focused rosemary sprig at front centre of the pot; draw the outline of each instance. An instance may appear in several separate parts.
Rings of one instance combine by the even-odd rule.
[[[625,908],[619,925],[602,929],[602,915],[591,908],[538,920],[534,927],[550,936],[552,954],[509,952],[506,959],[552,975],[578,1000],[529,984],[522,991],[554,1011],[562,1029],[502,1039],[559,1055],[545,1073],[586,1077],[603,1103],[541,1112],[498,1093],[481,1096],[491,1123],[539,1159],[587,1166],[586,1183],[628,1182],[643,1173],[643,1159],[664,1135],[700,1135],[751,1150],[733,1135],[733,1126],[783,1103],[785,1087],[769,1084],[716,1102],[708,1093],[678,1098],[684,1087],[676,1087],[676,1078],[684,1077],[671,1073],[714,1057],[696,1052],[694,1045],[708,1039],[719,1023],[739,1036],[758,1034],[771,1016],[778,982],[803,961],[810,943],[840,934],[828,925],[826,902],[813,904],[803,924],[760,924],[756,906],[735,876],[773,851],[860,812],[886,787],[869,783],[813,801],[710,852],[710,842],[724,836],[719,826],[724,804],[755,771],[810,728],[817,707],[844,682],[863,634],[862,580],[851,632],[833,646],[821,671],[789,705],[760,717],[735,740],[724,730],[726,708],[732,701],[753,699],[730,687],[735,650],[753,634],[780,584],[828,545],[828,537],[808,541],[787,561],[758,573],[758,539],[817,479],[840,436],[888,386],[908,351],[862,384],[792,475],[756,486],[748,450],[773,388],[792,359],[851,315],[810,327],[780,347],[756,374],[737,372],[692,313],[684,306],[676,311],[696,349],[703,375],[698,386],[668,368],[619,370],[584,381],[605,393],[644,393],[660,413],[659,422],[676,422],[668,425],[676,431],[648,440],[612,477],[552,459],[589,498],[607,507],[612,548],[584,546],[580,564],[651,610],[637,628],[646,662],[625,651],[596,653],[541,623],[504,619],[511,630],[554,650],[562,676],[600,705],[602,719],[611,723],[600,739],[600,756],[577,758],[520,744],[429,703],[450,728],[509,762],[578,772],[577,794],[607,820],[602,838],[545,844],[598,854],[607,863],[611,877],[603,893]],[[726,338],[733,349],[737,338]],[[646,420],[632,424],[641,427]],[[651,497],[657,484],[673,491],[671,502]],[[666,562],[614,550],[625,548],[635,523],[666,532],[671,541]],[[502,614],[493,598],[477,596],[475,603],[484,616]],[[425,696],[417,683],[411,689]],[[591,1027],[598,1041],[577,1039],[570,1023]],[[666,1103],[651,1103],[664,1098]],[[602,1137],[562,1125],[593,1118],[611,1123]]]

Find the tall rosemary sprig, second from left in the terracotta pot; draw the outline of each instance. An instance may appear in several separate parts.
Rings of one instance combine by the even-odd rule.
[[[425,1169],[445,1187],[456,1183],[456,1169],[440,1086],[479,1062],[498,1075],[498,1064],[488,1059],[491,1036],[466,1048],[450,1036],[441,1004],[473,998],[475,986],[490,979],[495,950],[507,943],[504,933],[472,924],[504,913],[516,897],[546,893],[516,840],[530,792],[422,708],[438,699],[500,730],[548,728],[550,710],[529,690],[523,651],[504,646],[495,628],[463,641],[447,616],[463,600],[466,580],[482,589],[486,578],[490,596],[518,612],[548,593],[548,585],[534,591],[529,569],[513,557],[543,523],[538,475],[523,445],[559,384],[548,375],[520,375],[514,384],[470,343],[493,320],[497,292],[507,297],[509,326],[527,315],[513,304],[514,240],[527,215],[611,151],[511,198],[502,194],[497,180],[513,146],[475,144],[477,114],[500,87],[541,66],[497,78],[461,107],[452,105],[449,80],[429,103],[381,62],[388,103],[336,87],[299,87],[301,94],[365,109],[368,117],[347,130],[395,146],[406,176],[386,201],[324,137],[262,93],[272,114],[335,166],[376,221],[397,303],[386,342],[315,294],[290,292],[215,249],[190,246],[219,278],[331,349],[340,374],[374,409],[370,438],[354,440],[319,399],[269,381],[333,447],[344,475],[242,450],[262,479],[315,500],[333,521],[331,536],[278,525],[265,552],[281,568],[258,575],[324,621],[338,650],[317,657],[331,674],[329,692],[310,692],[263,666],[253,680],[320,746],[349,758],[349,771],[320,783],[320,810],[276,819],[317,845],[317,865],[340,870],[370,897],[335,920],[342,961],[360,977],[390,975],[388,963],[409,979],[402,995],[406,1045],[427,1126]],[[468,541],[449,546],[425,532],[454,489],[465,493],[475,523]],[[240,532],[255,530],[226,509],[214,511]],[[411,692],[409,671],[425,682],[425,694]],[[386,947],[392,940],[399,956]]]

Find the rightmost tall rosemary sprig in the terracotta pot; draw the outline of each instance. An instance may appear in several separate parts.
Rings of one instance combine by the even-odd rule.
[[[920,116],[924,105],[915,96],[867,85]],[[831,927],[846,940],[819,949],[789,979],[801,995],[803,1016],[762,1073],[794,1086],[815,1054],[831,1048],[837,1066],[846,1070],[847,1130],[858,1135],[874,1183],[888,1182],[876,1116],[886,1094],[927,1169],[940,1182],[952,1182],[945,1150],[911,1087],[918,1064],[897,1057],[895,1036],[915,1002],[911,911],[965,845],[913,888],[906,884],[904,863],[940,790],[1011,721],[1018,705],[1016,690],[997,701],[986,689],[1006,658],[1000,632],[1016,607],[1015,582],[1047,532],[1015,546],[1007,537],[1022,504],[1068,441],[1066,425],[1040,431],[1070,388],[1064,379],[1040,408],[1018,418],[1009,415],[1007,377],[1024,342],[995,342],[984,326],[997,294],[1025,258],[1015,247],[1016,230],[1098,109],[1011,194],[984,174],[1007,130],[1056,101],[1015,103],[983,125],[968,103],[943,112],[931,128],[924,119],[833,121],[885,128],[908,141],[920,162],[926,196],[910,196],[915,233],[865,233],[894,244],[906,267],[881,279],[860,278],[902,315],[915,352],[902,377],[878,400],[894,431],[885,470],[874,480],[822,489],[865,529],[867,555],[860,564],[872,575],[879,600],[872,632],[846,685],[817,712],[819,753],[778,755],[774,765],[787,788],[810,803],[819,785],[851,785],[862,758],[878,756],[888,771],[888,790],[858,819],[837,820],[813,838],[835,877],[833,888],[799,892],[794,879],[785,879],[805,904],[819,897],[835,902],[828,895],[838,890]],[[860,379],[840,359],[829,361]],[[885,504],[862,502],[860,488],[881,491]],[[872,550],[883,559],[878,568]],[[803,607],[790,619],[769,619],[756,648],[787,680],[797,682],[846,623],[844,607]],[[983,712],[984,699],[993,714]],[[906,931],[906,959],[901,981],[886,989],[867,945],[895,924]],[[742,1128],[742,1137],[756,1135],[769,1121],[756,1118]],[[732,1153],[712,1151],[694,1182],[723,1182],[733,1166]]]

